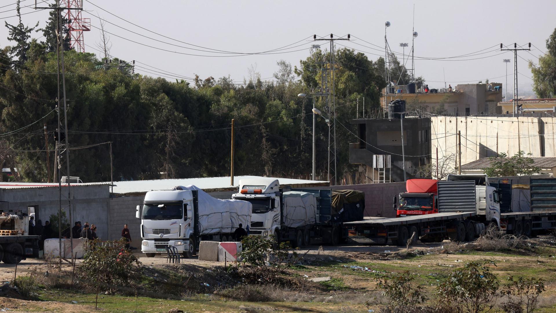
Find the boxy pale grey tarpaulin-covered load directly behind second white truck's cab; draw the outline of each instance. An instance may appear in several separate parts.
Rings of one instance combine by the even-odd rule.
[[[316,222],[316,198],[308,192],[289,191],[284,193],[284,224],[300,227]]]

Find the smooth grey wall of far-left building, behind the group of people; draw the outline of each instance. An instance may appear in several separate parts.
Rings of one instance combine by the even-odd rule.
[[[62,189],[62,209],[67,209],[65,188]],[[108,185],[72,186],[71,192],[73,221],[95,224],[98,227],[97,235],[103,239],[108,238]],[[12,210],[19,209],[24,213],[27,213],[28,207],[35,207],[36,218],[41,219],[43,225],[59,209],[58,187],[0,189],[0,200],[9,202]],[[68,212],[66,216],[69,220]]]

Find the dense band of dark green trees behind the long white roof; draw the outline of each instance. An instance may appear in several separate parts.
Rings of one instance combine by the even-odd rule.
[[[46,35],[51,24],[43,30]],[[50,131],[48,149],[53,150],[56,49],[51,36],[45,36],[50,42],[31,39],[33,29],[21,19],[18,25],[6,26],[11,27],[11,46],[0,51],[1,161],[3,167],[17,167],[22,180],[46,181],[43,124]],[[224,176],[229,175],[230,121],[235,119],[237,175],[308,178],[312,99],[297,94],[317,92],[316,62],[329,57],[326,51],[317,51],[295,69],[279,61],[276,80],[271,82],[255,77],[237,84],[230,77],[209,77],[189,83],[132,74],[129,67],[106,66],[117,64],[117,59],[66,51],[69,143],[76,148],[112,141],[115,179]],[[356,141],[341,124],[351,129],[358,97],[360,111],[365,97],[366,111],[373,114],[385,84],[382,58],[373,62],[362,53],[341,49],[336,51],[336,62],[340,182],[353,170],[348,147]],[[294,73],[300,79],[294,79]],[[324,101],[317,99],[316,105],[325,111]],[[320,118],[316,125],[317,177],[326,179],[328,126]],[[51,170],[53,157],[51,152]],[[70,161],[71,174],[84,182],[110,180],[107,144],[71,150]]]

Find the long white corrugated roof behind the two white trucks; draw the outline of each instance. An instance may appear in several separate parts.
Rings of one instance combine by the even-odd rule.
[[[176,186],[196,185],[203,190],[233,189],[237,188],[240,179],[256,179],[260,176],[235,176],[234,186],[230,183],[230,177],[201,177],[201,178],[182,178],[182,179],[154,179],[154,180],[127,180],[124,182],[114,182],[113,193],[142,193],[151,190],[167,190]],[[278,179],[281,185],[299,184],[328,184],[322,180],[305,180],[292,178]]]

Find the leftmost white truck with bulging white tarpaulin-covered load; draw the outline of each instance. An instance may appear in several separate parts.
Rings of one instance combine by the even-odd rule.
[[[251,222],[251,203],[221,200],[190,185],[145,194],[136,217],[141,219],[141,252],[147,257],[175,247],[185,257],[193,256],[201,240],[232,241],[239,227]]]

